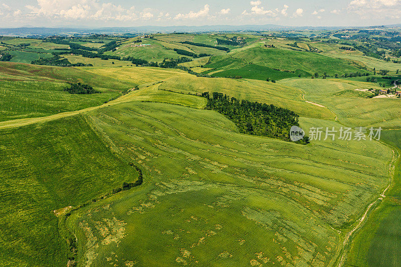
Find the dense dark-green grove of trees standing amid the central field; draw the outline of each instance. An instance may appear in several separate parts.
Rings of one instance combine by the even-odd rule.
[[[207,109],[215,110],[233,121],[241,133],[268,136],[290,141],[290,129],[299,126],[295,112],[266,103],[238,100],[223,93],[202,94],[208,100]],[[307,143],[307,138],[300,143]]]

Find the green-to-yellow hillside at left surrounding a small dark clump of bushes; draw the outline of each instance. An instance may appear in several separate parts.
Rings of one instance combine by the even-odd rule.
[[[161,68],[60,68],[27,64],[0,64],[0,121],[43,117],[99,106],[136,85],[152,84],[183,71]],[[67,82],[82,82],[101,94],[62,92]],[[163,98],[160,95],[159,98]]]

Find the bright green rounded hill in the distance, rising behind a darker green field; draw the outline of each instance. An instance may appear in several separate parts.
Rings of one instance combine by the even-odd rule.
[[[316,53],[271,49],[260,47],[259,45],[261,44],[237,49],[225,56],[212,57],[212,63],[219,64],[221,60],[233,57],[245,60],[247,63],[269,68],[288,71],[301,69],[309,73],[317,72],[320,75],[324,72],[328,75],[360,72],[358,68],[349,65],[343,60],[333,59]],[[209,66],[206,67],[209,68]]]

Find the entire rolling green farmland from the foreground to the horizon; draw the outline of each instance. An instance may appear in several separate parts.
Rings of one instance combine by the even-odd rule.
[[[0,265],[399,265],[393,50],[296,33],[1,37]]]

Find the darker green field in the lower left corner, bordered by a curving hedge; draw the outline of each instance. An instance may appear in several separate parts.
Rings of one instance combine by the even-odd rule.
[[[66,266],[53,210],[137,178],[81,116],[2,130],[0,255],[4,266]]]

